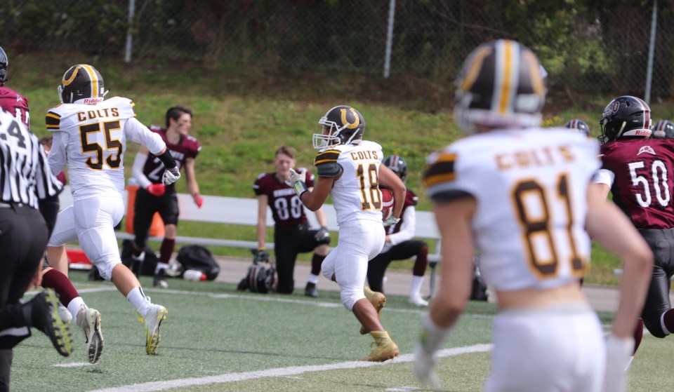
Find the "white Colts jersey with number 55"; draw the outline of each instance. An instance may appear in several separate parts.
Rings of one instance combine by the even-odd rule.
[[[49,164],[52,173],[68,165],[74,200],[123,196],[126,140],[159,154],[166,144],[136,119],[133,102],[112,97],[99,104],[60,104],[46,115],[54,133]]]

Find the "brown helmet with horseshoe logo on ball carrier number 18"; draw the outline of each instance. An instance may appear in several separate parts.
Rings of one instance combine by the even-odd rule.
[[[358,144],[363,140],[365,119],[356,109],[340,105],[333,107],[318,121],[322,133],[313,135],[315,149],[335,144]]]

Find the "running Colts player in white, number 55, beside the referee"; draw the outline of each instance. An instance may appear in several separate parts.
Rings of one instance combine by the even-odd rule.
[[[166,308],[152,304],[136,276],[121,264],[114,226],[124,215],[124,151],[126,140],[143,144],[166,166],[164,184],[180,178],[161,137],[136,119],[133,102],[123,97],[103,100],[107,93],[103,76],[91,65],[68,69],[58,86],[62,104],[46,114],[47,129],[54,133],[49,163],[54,175],[68,166],[73,205],[62,210],[49,239],[48,255],[56,269],[62,264],[63,245],[79,241],[86,256],[105,280],[112,281],[133,306],[145,325],[145,351],[154,354],[159,344],[159,325]],[[73,310],[71,310],[72,312]],[[78,320],[79,321],[79,320]],[[86,315],[89,334],[103,346],[100,314]],[[100,355],[100,354],[99,354]]]

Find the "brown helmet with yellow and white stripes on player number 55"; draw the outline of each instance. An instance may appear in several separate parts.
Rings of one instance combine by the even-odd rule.
[[[106,94],[103,76],[98,69],[86,64],[70,67],[58,86],[62,103],[98,104]]]

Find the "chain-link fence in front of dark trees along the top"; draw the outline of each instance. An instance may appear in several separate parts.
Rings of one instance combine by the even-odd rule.
[[[475,46],[511,38],[538,54],[556,90],[645,92],[652,1],[4,0],[0,46],[381,77],[394,3],[393,80],[451,82]],[[654,99],[673,92],[672,10],[658,8]]]

